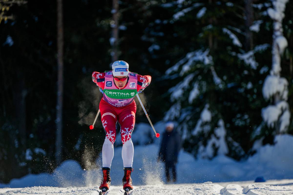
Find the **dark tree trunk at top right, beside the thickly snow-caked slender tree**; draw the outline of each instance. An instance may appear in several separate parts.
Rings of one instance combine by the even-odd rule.
[[[245,51],[249,51],[253,49],[253,34],[249,27],[251,27],[253,23],[253,8],[252,8],[253,0],[245,1]]]

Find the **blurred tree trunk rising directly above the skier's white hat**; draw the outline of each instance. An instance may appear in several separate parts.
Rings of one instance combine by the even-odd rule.
[[[119,37],[119,23],[118,23],[118,9],[119,4],[118,0],[113,0],[113,21],[114,24],[112,25],[112,39],[113,39],[113,45],[112,45],[112,62],[115,62],[118,60],[118,37]]]

